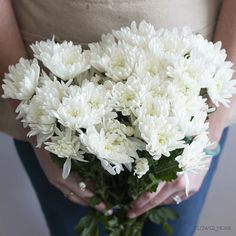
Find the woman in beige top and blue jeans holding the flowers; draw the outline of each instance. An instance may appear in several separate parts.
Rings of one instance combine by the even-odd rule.
[[[87,43],[99,40],[102,33],[129,25],[132,20],[140,22],[143,19],[156,28],[189,25],[208,39],[221,40],[228,51],[228,59],[236,62],[236,2],[233,0],[196,0],[191,3],[188,0],[15,0],[12,5],[10,1],[0,0],[0,6],[1,75],[19,57],[31,57],[29,44],[36,40],[55,35],[59,41],[72,40],[86,47]],[[1,129],[24,140],[26,131],[16,123],[11,106],[1,101],[0,112],[4,114]],[[210,117],[210,139],[216,143],[221,139],[221,146],[224,145],[227,130],[223,133],[223,129],[229,117],[226,108],[218,109]],[[73,226],[86,211],[81,205],[85,206],[93,193],[88,189],[82,191],[78,186],[80,179],[73,173],[63,180],[61,170],[51,162],[49,154],[33,148],[34,140],[25,141],[29,143],[15,140],[15,145],[38,195],[51,235],[74,235]],[[215,145],[210,148],[214,149]],[[187,199],[184,195],[184,181],[180,177],[172,183],[161,184],[155,193],[145,193],[137,199],[128,217],[137,217],[158,205],[171,204],[181,216],[171,223],[175,235],[193,235],[217,162],[218,156],[212,160],[208,172],[190,176],[193,196]],[[104,208],[103,203],[97,206],[98,210]],[[143,235],[164,233],[159,226],[147,222]]]

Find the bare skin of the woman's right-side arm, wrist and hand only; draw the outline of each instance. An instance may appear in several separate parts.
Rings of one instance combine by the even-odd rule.
[[[236,64],[236,1],[224,0],[220,10],[220,15],[216,25],[213,41],[221,41],[223,48],[226,49],[227,59]],[[234,70],[236,66],[234,64]],[[234,75],[236,79],[236,75]],[[236,101],[236,96],[231,99],[231,105]],[[224,129],[225,121],[229,115],[229,109],[220,107],[212,113],[209,118],[209,137],[211,142],[219,142]],[[209,149],[214,149],[216,144]],[[208,168],[211,161],[209,161]],[[207,173],[207,169],[199,175],[189,174],[190,195],[197,192],[201,187],[202,181]],[[158,205],[173,203],[172,196],[179,195],[182,200],[187,199],[185,195],[185,181],[183,176],[179,176],[171,183],[161,183],[154,193],[144,193],[132,203],[132,210],[128,213],[129,218],[135,218]]]

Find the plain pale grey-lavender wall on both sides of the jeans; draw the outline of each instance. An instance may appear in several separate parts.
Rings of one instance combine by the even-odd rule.
[[[236,126],[234,125],[230,128],[195,236],[236,235],[235,179]],[[220,226],[221,230],[213,230],[213,227]],[[231,230],[226,230],[228,226]],[[49,236],[49,233],[12,139],[0,133],[0,236],[19,235]]]

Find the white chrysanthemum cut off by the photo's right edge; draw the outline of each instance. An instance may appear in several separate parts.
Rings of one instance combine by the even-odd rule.
[[[236,80],[232,80],[234,70],[231,62],[225,62],[216,71],[213,83],[207,89],[208,95],[216,106],[222,103],[229,106],[229,98],[236,93]]]

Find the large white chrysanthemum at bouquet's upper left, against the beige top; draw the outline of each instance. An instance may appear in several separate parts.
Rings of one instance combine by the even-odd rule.
[[[59,44],[52,40],[31,45],[34,56],[41,60],[53,74],[63,80],[74,79],[90,68],[89,52],[71,41]]]

